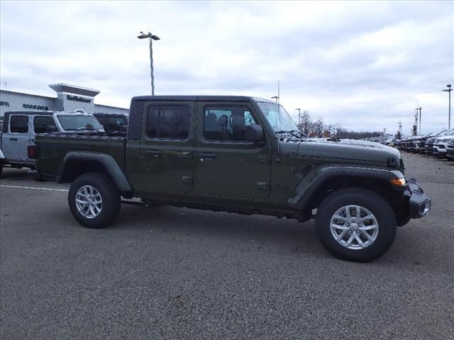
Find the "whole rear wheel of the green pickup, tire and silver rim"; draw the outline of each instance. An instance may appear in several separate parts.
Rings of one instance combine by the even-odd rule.
[[[114,222],[121,209],[121,197],[108,176],[88,173],[71,183],[68,204],[77,222],[97,229]]]

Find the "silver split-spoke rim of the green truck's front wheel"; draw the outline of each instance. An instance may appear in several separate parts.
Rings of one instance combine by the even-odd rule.
[[[330,221],[331,234],[338,244],[358,250],[371,246],[378,236],[377,218],[360,205],[345,205],[334,212]]]

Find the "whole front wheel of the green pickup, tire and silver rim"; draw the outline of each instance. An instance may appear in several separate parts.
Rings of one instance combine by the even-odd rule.
[[[331,254],[348,261],[378,259],[396,237],[396,217],[381,196],[347,188],[328,196],[317,210],[316,232]]]

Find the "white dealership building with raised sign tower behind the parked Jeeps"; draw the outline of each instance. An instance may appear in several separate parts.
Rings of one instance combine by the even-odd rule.
[[[106,106],[94,103],[98,90],[69,84],[50,84],[57,97],[23,94],[21,92],[0,90],[0,120],[7,111],[65,111],[83,110],[87,113],[124,113],[127,108]]]

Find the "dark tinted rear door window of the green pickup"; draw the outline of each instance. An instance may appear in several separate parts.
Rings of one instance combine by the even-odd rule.
[[[185,140],[189,135],[188,106],[150,106],[147,136]]]

